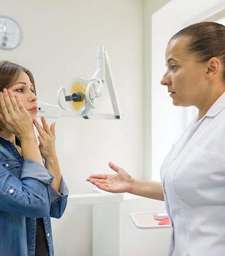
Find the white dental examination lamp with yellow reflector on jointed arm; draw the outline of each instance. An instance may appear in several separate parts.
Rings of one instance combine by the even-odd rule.
[[[95,102],[101,97],[104,84],[108,87],[114,114],[93,113],[93,109],[96,108]],[[61,99],[69,104],[71,111],[67,110],[62,105]],[[57,103],[61,109],[58,106],[55,106],[58,113],[56,115],[82,117],[84,119],[121,119],[119,103],[110,71],[109,59],[104,46],[98,46],[97,70],[94,72],[93,76],[89,79],[82,77],[73,79],[67,90],[65,87],[61,87],[57,93]],[[38,105],[39,114],[44,114],[45,116],[50,115],[48,114],[48,110],[54,107],[54,105],[41,102],[39,102]],[[46,113],[44,113],[44,110],[46,110]]]

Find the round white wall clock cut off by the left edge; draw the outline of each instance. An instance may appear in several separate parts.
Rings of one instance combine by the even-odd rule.
[[[19,25],[5,16],[0,16],[0,48],[13,49],[22,40],[22,31]]]

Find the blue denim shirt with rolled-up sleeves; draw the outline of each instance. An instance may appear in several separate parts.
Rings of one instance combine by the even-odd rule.
[[[17,141],[18,137],[16,137]],[[20,156],[0,137],[0,256],[34,256],[36,218],[43,218],[49,255],[53,256],[50,217],[60,218],[68,189],[51,188],[54,176],[40,163]]]

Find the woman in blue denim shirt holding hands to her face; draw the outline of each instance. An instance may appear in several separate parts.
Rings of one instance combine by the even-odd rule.
[[[60,218],[67,204],[68,189],[55,151],[55,122],[49,127],[42,116],[40,125],[36,113],[30,71],[1,61],[0,256],[52,256],[50,217]]]

